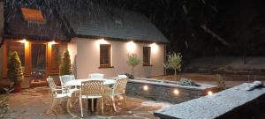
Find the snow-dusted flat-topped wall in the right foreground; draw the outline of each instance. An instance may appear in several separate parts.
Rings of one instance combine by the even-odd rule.
[[[176,104],[154,115],[162,119],[264,119],[265,88],[246,91],[247,85]]]

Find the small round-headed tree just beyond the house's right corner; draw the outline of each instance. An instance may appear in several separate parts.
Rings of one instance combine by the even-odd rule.
[[[181,61],[182,56],[180,53],[173,52],[172,54],[168,55],[166,63],[164,63],[164,67],[166,69],[173,69],[175,78],[177,78],[177,71],[181,71]]]

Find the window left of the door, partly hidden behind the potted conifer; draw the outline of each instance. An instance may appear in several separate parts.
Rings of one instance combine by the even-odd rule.
[[[23,71],[25,70],[25,45],[20,42],[8,42],[7,53],[17,51]]]

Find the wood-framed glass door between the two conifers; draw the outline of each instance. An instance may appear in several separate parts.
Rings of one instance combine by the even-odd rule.
[[[31,44],[31,77],[32,85],[46,85],[46,60],[47,50],[46,43],[32,43]]]

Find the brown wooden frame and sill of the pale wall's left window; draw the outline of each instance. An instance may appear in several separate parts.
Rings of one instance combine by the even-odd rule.
[[[102,47],[106,47],[108,52],[107,52],[107,57],[108,57],[108,60],[109,60],[109,63],[102,63],[102,60],[105,60],[105,59],[102,59]],[[102,68],[113,68],[113,66],[111,65],[111,44],[100,44],[100,69]]]

